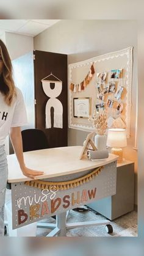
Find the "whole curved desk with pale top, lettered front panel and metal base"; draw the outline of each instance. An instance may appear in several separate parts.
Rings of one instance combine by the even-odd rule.
[[[16,156],[7,156],[8,183],[12,185],[13,229],[18,229],[23,225],[37,222],[52,215],[57,215],[57,223],[56,225],[47,225],[53,229],[56,227],[49,236],[57,234],[63,236],[66,234],[66,229],[74,227],[109,224],[109,221],[66,223],[68,210],[84,205],[86,202],[112,196],[116,192],[117,156],[110,154],[109,158],[101,161],[90,161],[87,158],[79,160],[81,150],[81,146],[74,146],[24,152],[24,161],[27,167],[45,172],[42,176],[37,177],[37,180],[44,179],[44,181],[59,183],[71,181],[90,174],[97,167],[103,166],[101,173],[93,177],[92,180],[80,186],[58,190],[54,198],[51,197],[51,199],[52,193],[44,198],[46,192],[49,191],[48,189],[27,186],[24,182],[31,179],[24,177],[21,173]],[[40,224],[39,226],[42,227],[43,225]]]

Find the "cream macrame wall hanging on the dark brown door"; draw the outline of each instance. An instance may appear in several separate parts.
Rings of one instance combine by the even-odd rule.
[[[41,79],[41,82],[46,96],[49,97],[45,109],[46,129],[51,128],[51,108],[54,108],[54,127],[63,128],[63,106],[57,99],[62,92],[62,81],[51,73],[51,75]],[[54,86],[54,89],[51,89],[51,85]]]

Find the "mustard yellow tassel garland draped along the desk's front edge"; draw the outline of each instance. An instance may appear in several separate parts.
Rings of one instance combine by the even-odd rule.
[[[75,188],[77,186],[80,186],[88,181],[93,180],[95,176],[98,176],[101,170],[103,169],[103,166],[96,168],[90,174],[87,174],[81,178],[77,178],[75,180],[70,181],[60,181],[60,182],[53,182],[53,181],[42,181],[42,180],[31,180],[31,181],[25,181],[24,185],[27,186],[34,186],[35,188],[39,189],[56,189],[56,190],[66,190],[70,188]]]

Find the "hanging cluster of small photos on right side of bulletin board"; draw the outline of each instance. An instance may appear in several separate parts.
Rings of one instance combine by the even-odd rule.
[[[96,111],[107,109],[108,126],[126,128],[124,114],[126,112],[126,87],[123,69],[97,73]]]

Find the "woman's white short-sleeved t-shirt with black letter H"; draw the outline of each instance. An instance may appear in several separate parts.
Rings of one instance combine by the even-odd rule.
[[[23,95],[17,87],[16,95],[11,106],[8,106],[4,101],[4,95],[0,92],[0,145],[4,145],[5,137],[9,134],[10,127],[27,124]]]

